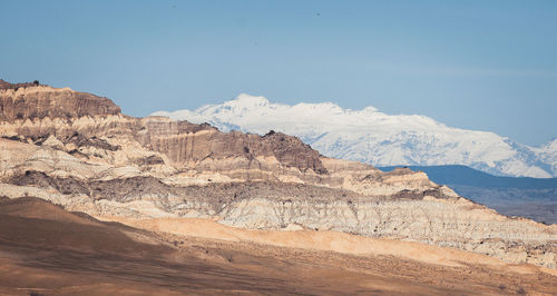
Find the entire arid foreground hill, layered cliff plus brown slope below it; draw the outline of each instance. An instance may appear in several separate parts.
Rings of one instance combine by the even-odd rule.
[[[557,226],[296,137],[0,83],[6,295],[555,295]]]

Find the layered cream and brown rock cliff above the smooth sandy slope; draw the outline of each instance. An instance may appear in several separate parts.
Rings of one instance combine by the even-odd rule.
[[[556,226],[498,215],[423,172],[326,158],[280,132],[127,117],[69,89],[0,89],[0,196],[37,196],[104,219],[338,230],[557,267]]]

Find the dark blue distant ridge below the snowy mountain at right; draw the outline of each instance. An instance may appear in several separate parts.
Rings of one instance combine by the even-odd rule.
[[[380,167],[391,171],[397,166]],[[557,224],[557,178],[516,178],[492,176],[465,166],[409,166],[448,185],[459,195],[483,204],[507,216]]]

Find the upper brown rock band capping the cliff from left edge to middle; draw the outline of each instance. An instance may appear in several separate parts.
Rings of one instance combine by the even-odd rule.
[[[117,118],[82,119],[99,116]],[[31,124],[26,124],[28,119]],[[118,145],[109,144],[108,138],[118,137],[165,155],[168,165],[179,170],[226,171],[232,177],[246,179],[268,179],[268,174],[262,170],[295,168],[302,174],[326,172],[320,154],[292,136],[221,132],[209,125],[124,117],[111,100],[70,89],[32,83],[18,90],[7,87],[0,90],[0,125],[1,121],[6,126],[3,137],[42,145],[53,136],[72,154],[82,154],[84,147],[116,151]],[[160,157],[153,159],[162,160]],[[147,160],[139,160],[144,161]]]

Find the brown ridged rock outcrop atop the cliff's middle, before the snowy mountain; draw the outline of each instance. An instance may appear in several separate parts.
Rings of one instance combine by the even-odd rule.
[[[208,125],[172,121],[166,118],[144,120],[146,132],[138,141],[148,149],[166,155],[178,167],[196,164],[203,170],[266,169],[261,158],[275,158],[284,167],[325,174],[320,154],[299,138],[280,132],[263,137],[240,131],[221,132]],[[229,167],[217,159],[236,159]],[[216,168],[219,167],[219,168]]]

